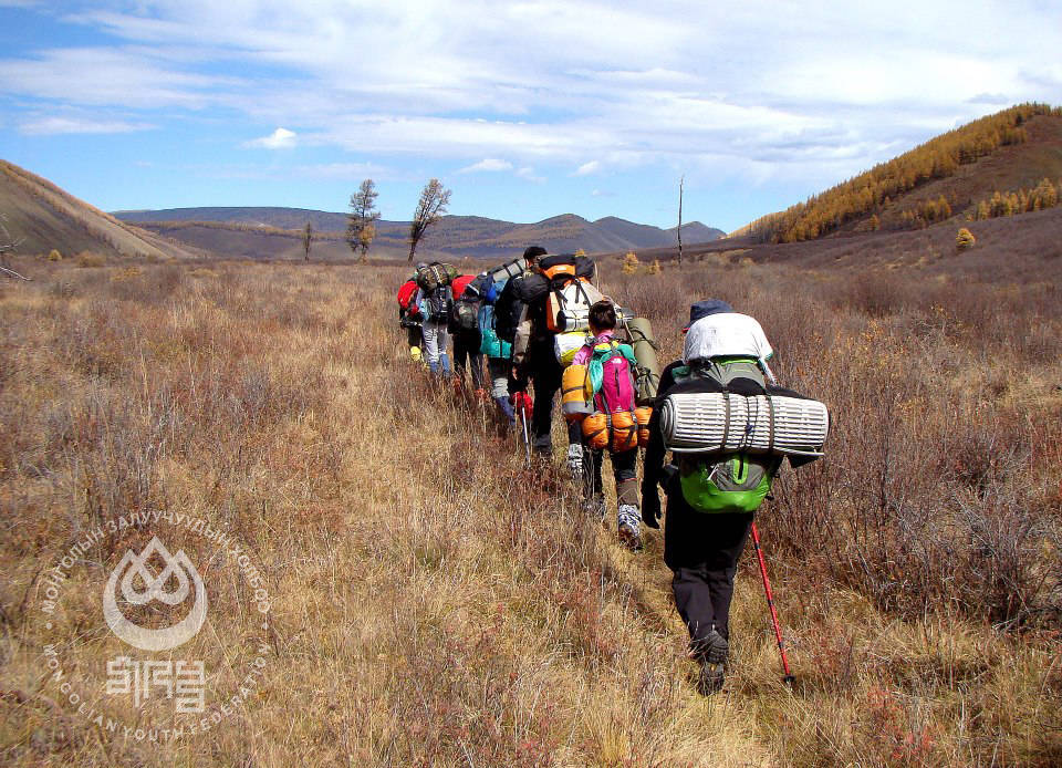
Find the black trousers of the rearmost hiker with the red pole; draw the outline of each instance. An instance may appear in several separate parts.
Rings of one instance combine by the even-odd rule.
[[[675,574],[675,608],[686,622],[695,650],[712,629],[726,639],[730,636],[733,574],[751,525],[751,512],[698,512],[683,498],[678,478],[669,482],[664,562]]]

